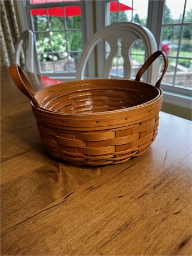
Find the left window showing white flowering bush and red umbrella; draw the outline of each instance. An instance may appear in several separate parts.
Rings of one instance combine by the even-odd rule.
[[[27,10],[38,72],[74,75],[85,44],[83,1],[31,0]]]

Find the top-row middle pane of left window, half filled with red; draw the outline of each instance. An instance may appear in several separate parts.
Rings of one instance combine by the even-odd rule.
[[[48,13],[57,13],[57,15],[50,15],[50,28],[51,30],[64,30],[63,7],[48,8]]]

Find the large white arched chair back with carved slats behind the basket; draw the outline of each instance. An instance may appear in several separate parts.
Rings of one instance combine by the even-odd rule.
[[[124,79],[131,79],[132,65],[130,50],[136,40],[141,39],[144,43],[145,58],[150,57],[152,53],[157,51],[155,37],[148,28],[134,22],[118,22],[111,24],[96,32],[86,43],[83,52],[81,53],[80,60],[78,61],[76,80],[83,80],[88,58],[90,57],[93,48],[101,40],[107,41],[110,45],[110,54],[105,60],[102,78],[110,78],[112,61],[119,51],[118,44],[120,39],[122,40],[121,55],[124,58]],[[155,83],[158,70],[158,61],[155,61],[149,70],[147,70],[145,81]]]

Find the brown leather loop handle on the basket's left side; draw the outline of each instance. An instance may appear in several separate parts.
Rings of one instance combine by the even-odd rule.
[[[22,91],[24,95],[26,95],[28,99],[33,102],[34,106],[40,109],[40,104],[38,104],[37,100],[35,99],[35,91],[27,80],[27,77],[24,75],[21,68],[17,64],[15,64],[9,67],[9,73],[14,84],[19,88],[19,90]]]

